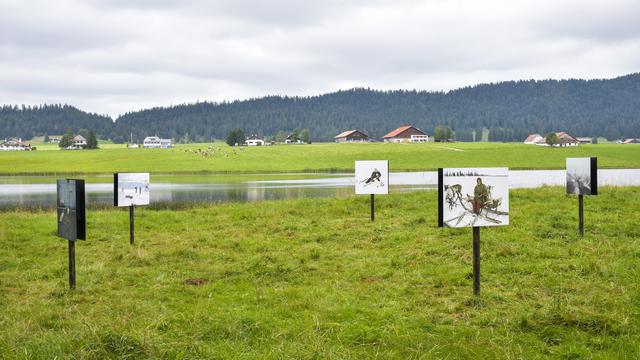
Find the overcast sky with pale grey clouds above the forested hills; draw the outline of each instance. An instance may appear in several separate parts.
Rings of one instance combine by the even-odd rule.
[[[0,0],[0,104],[152,106],[640,71],[640,1]]]

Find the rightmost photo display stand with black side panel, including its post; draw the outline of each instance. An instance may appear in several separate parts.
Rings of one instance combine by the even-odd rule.
[[[567,158],[567,194],[578,195],[578,233],[584,235],[584,195],[598,195],[598,158]]]

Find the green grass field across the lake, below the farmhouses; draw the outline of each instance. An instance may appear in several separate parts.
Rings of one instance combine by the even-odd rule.
[[[563,169],[567,157],[597,156],[600,168],[640,167],[640,146],[599,144],[548,148],[524,144],[311,144],[232,148],[214,144],[205,157],[191,144],[173,149],[0,152],[0,174],[265,173],[352,171],[355,160],[387,159],[392,171],[506,166]]]

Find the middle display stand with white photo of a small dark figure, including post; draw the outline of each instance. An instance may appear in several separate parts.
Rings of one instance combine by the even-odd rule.
[[[375,195],[389,193],[389,161],[356,161],[355,189],[357,195],[371,196],[371,221],[374,221],[376,218]]]

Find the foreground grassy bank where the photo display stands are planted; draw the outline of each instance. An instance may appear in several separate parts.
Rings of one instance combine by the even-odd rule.
[[[53,212],[0,213],[0,357],[637,358],[640,188],[516,190],[513,225],[436,228],[433,191],[88,214],[67,290]]]

